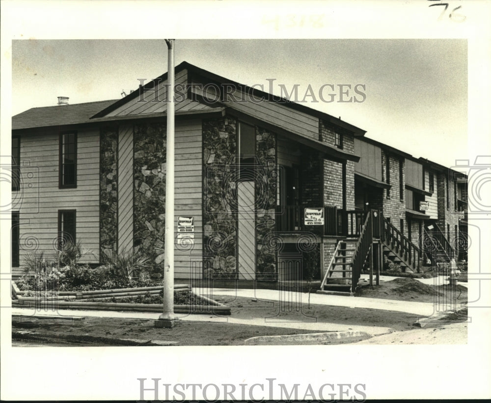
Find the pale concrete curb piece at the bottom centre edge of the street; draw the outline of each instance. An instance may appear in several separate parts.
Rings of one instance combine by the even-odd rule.
[[[321,343],[329,340],[342,340],[350,337],[371,337],[367,332],[344,331],[325,333],[287,334],[283,336],[256,336],[246,339],[246,346]]]

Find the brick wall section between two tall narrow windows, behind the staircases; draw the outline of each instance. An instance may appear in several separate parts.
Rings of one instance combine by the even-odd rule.
[[[406,201],[405,192],[403,193],[403,200],[401,201],[399,197],[399,158],[394,157],[390,154],[382,153],[382,165],[383,165],[383,178],[387,180],[386,158],[389,158],[390,163],[390,198],[387,198],[387,189],[383,190],[383,215],[385,218],[390,218],[390,221],[397,229],[400,230],[399,221],[404,219],[406,221]],[[406,183],[406,174],[404,170],[404,160],[403,160],[403,183]],[[408,225],[407,222],[404,224],[404,235],[408,236]]]

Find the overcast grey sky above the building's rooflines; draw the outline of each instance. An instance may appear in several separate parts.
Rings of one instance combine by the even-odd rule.
[[[305,105],[341,117],[366,136],[445,165],[467,158],[467,41],[450,39],[180,40],[175,63],[280,94],[298,86]],[[12,113],[56,104],[121,98],[167,70],[163,40],[15,40]],[[319,97],[323,84],[324,99]],[[338,102],[339,84],[351,84]],[[344,87],[345,91],[347,87]],[[312,102],[318,101],[318,102]]]

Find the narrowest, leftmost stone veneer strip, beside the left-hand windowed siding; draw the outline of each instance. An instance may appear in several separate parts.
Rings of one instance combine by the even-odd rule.
[[[100,257],[117,252],[118,237],[118,132],[102,128],[100,135]]]

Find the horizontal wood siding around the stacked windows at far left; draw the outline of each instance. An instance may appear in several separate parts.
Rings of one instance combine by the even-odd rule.
[[[55,253],[61,209],[77,210],[77,241],[90,251],[81,262],[99,261],[99,130],[78,131],[77,188],[58,188],[58,142],[55,132],[21,138],[21,190],[12,192],[12,210],[20,211],[21,266],[33,250]]]

